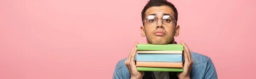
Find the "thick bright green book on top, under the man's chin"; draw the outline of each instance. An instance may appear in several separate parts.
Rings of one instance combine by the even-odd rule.
[[[166,44],[166,45],[154,45],[139,43],[137,50],[165,50],[165,51],[183,51],[183,45],[181,44]]]

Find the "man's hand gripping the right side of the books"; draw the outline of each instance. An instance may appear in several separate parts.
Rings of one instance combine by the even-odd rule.
[[[190,50],[185,42],[180,41],[180,44],[184,46],[184,56],[185,56],[185,62],[183,66],[183,72],[177,73],[177,76],[179,79],[190,79],[190,71],[193,64],[193,59],[190,53]]]

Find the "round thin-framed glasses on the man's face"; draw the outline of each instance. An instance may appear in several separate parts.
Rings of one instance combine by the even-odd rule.
[[[162,23],[165,24],[165,25],[171,25],[173,20],[175,20],[170,15],[164,15],[160,19],[161,19]],[[148,17],[146,17],[144,20],[146,20],[149,25],[155,25],[158,21],[158,18],[157,18],[156,15],[148,15]],[[144,23],[144,20],[143,20],[143,23]],[[176,20],[175,20],[175,22],[176,22]]]

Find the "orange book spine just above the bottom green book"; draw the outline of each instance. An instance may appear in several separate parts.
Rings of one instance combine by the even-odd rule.
[[[137,67],[182,68],[183,62],[136,62]]]

